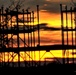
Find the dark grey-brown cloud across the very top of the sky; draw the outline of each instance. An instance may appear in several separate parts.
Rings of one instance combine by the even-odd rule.
[[[0,5],[4,4],[5,6],[11,5],[12,1],[18,2],[18,0],[0,0]],[[23,0],[21,0],[23,1]],[[16,3],[15,2],[15,3]],[[40,6],[40,10],[46,10],[51,13],[59,13],[60,12],[60,4],[70,5],[71,1],[69,0],[24,0],[22,3],[23,8],[27,9],[30,7],[30,10],[36,11],[36,5]]]

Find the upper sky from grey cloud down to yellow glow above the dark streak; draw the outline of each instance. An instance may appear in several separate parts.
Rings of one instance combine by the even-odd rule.
[[[0,0],[0,6],[8,7],[13,0]],[[18,0],[14,0],[15,3]],[[21,0],[22,8],[36,11],[36,5],[39,5],[40,23],[48,23],[50,26],[60,27],[60,4],[72,6],[71,0]],[[75,0],[73,0],[75,2]]]

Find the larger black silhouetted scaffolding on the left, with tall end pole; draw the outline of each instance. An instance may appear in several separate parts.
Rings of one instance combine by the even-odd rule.
[[[29,9],[0,8],[0,67],[41,66],[41,59],[46,52],[54,49],[50,46],[40,45],[39,5],[36,16],[34,11]],[[41,56],[42,50],[46,51]]]

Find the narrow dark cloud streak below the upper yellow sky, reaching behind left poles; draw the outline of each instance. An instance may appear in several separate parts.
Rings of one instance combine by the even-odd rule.
[[[16,27],[17,25],[15,25],[15,27]],[[34,28],[34,29],[33,29]],[[24,29],[24,27],[22,26],[22,25],[19,25],[19,30],[23,30]],[[26,25],[25,26],[25,30],[27,30],[28,32],[29,32],[29,30],[31,31],[31,32],[33,32],[33,31],[38,31],[38,24],[37,25],[34,25],[34,27],[33,26],[29,26],[29,25]],[[59,31],[59,30],[61,30],[61,28],[56,28],[56,27],[48,27],[48,24],[47,23],[41,23],[41,24],[39,24],[39,29],[40,30],[43,30],[43,31]]]

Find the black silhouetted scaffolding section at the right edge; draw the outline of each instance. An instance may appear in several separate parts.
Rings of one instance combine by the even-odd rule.
[[[70,7],[68,9],[67,5],[63,6],[60,4],[61,10],[61,28],[62,28],[62,46],[64,45],[72,45],[72,49],[63,49],[63,64],[70,63],[69,54],[70,50],[72,50],[72,63],[75,63],[75,49],[76,46],[76,7]],[[70,34],[69,34],[70,33]],[[65,38],[66,37],[66,38]],[[66,41],[65,41],[66,40]],[[67,58],[67,60],[65,60]]]

